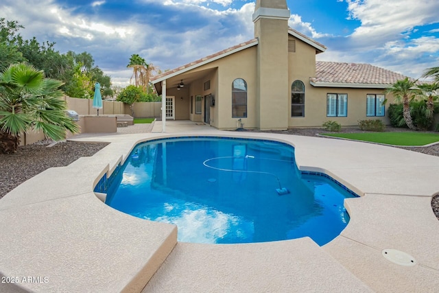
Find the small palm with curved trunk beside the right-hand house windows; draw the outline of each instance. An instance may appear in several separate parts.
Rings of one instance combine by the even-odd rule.
[[[405,124],[412,130],[416,130],[416,127],[410,115],[410,102],[412,102],[419,93],[419,90],[415,87],[416,82],[416,80],[405,78],[404,80],[397,80],[390,88],[385,89],[385,93],[391,93],[397,102],[401,102],[402,99]]]

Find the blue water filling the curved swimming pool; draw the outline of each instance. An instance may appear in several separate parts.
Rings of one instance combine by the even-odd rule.
[[[185,138],[137,145],[106,187],[106,204],[178,226],[178,241],[248,243],[340,234],[355,195],[301,174],[294,148],[273,141]],[[285,191],[288,193],[285,194]]]

